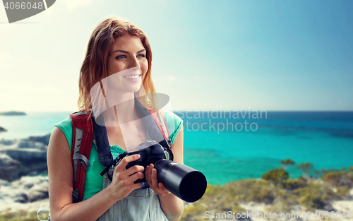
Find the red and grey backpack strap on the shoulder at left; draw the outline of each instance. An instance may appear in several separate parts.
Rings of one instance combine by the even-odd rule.
[[[73,167],[73,203],[82,201],[85,173],[90,167],[90,150],[93,141],[92,119],[89,114],[75,112],[70,114],[73,129],[71,162]]]

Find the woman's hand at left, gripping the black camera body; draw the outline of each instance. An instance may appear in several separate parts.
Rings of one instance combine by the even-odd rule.
[[[135,165],[128,169],[125,168],[128,162],[133,162],[138,160],[138,158],[140,158],[138,154],[124,157],[123,160],[114,167],[112,183],[107,186],[114,200],[119,201],[128,196],[133,190],[139,189],[142,186],[141,183],[135,184],[134,182],[138,179],[143,179],[143,171],[145,168],[140,165]]]

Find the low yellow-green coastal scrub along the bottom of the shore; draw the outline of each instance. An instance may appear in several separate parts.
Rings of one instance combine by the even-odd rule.
[[[244,205],[265,206],[272,213],[292,213],[301,210],[335,211],[333,201],[352,200],[349,191],[353,187],[353,167],[342,169],[322,169],[313,171],[311,163],[297,165],[302,176],[290,179],[287,167],[295,165],[292,160],[281,160],[282,166],[271,169],[261,179],[244,179],[228,184],[208,185],[205,195],[195,203],[185,203],[181,220],[209,220],[210,213],[246,213]],[[264,211],[265,212],[265,211]],[[47,217],[42,214],[41,219]],[[0,214],[0,221],[37,220],[36,213],[23,210]]]

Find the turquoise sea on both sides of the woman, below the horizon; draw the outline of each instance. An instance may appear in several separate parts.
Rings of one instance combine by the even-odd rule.
[[[259,179],[291,159],[289,177],[302,175],[296,165],[310,162],[311,175],[322,169],[353,166],[353,112],[213,111],[174,112],[184,125],[184,164],[205,174],[208,184]],[[41,136],[68,112],[28,112],[0,116],[1,139]]]

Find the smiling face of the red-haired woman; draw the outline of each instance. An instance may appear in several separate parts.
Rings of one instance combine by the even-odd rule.
[[[137,92],[148,71],[146,51],[139,37],[116,38],[109,56],[109,87],[121,92]]]

